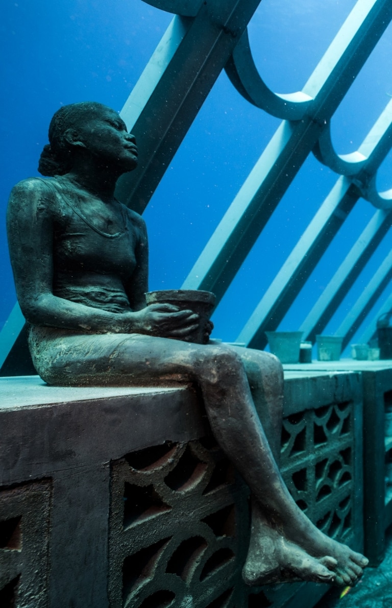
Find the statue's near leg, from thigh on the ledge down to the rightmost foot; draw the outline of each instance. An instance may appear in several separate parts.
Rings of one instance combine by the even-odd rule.
[[[293,546],[297,555],[292,552],[291,569],[299,578],[333,578],[325,559],[326,565],[335,568],[337,582],[352,584],[362,574],[367,560],[325,536],[290,496],[257,415],[244,364],[232,348],[140,334],[59,334],[49,339],[44,350],[41,356],[49,367],[43,377],[50,384],[62,384],[64,378],[75,385],[78,380],[90,384],[198,382],[216,440],[250,486],[270,525],[277,562]],[[38,350],[36,354],[40,356]]]

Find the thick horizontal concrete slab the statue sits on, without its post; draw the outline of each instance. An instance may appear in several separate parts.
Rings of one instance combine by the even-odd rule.
[[[22,376],[1,378],[0,395],[1,485],[205,432],[201,404],[188,387],[75,389]]]

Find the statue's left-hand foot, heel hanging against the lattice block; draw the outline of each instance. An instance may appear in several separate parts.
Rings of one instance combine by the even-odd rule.
[[[299,580],[331,584],[336,567],[331,556],[312,557],[266,523],[252,534],[242,578],[247,585]]]

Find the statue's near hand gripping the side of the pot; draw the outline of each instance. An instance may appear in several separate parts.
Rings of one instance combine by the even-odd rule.
[[[132,313],[132,320],[131,332],[183,340],[199,326],[198,314],[172,304],[151,304]]]

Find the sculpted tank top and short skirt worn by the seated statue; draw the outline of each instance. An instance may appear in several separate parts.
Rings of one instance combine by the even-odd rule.
[[[38,212],[41,205],[53,223],[53,295],[109,313],[131,312],[125,285],[145,282],[147,289],[140,276],[148,256],[142,218],[118,202],[120,229],[103,232],[61,178],[31,181],[44,191]],[[64,314],[61,323],[66,324]],[[192,353],[203,347],[140,333],[99,333],[88,325],[82,330],[31,325],[29,348],[47,384],[80,386],[193,381]]]

